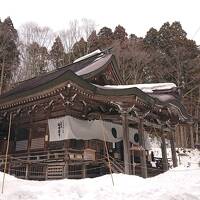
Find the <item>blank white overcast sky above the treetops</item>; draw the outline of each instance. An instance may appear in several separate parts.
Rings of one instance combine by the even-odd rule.
[[[180,21],[188,37],[200,44],[200,0],[0,0],[0,17],[14,26],[29,21],[54,31],[74,19],[95,21],[97,29],[120,24],[127,32],[145,36],[150,27]]]

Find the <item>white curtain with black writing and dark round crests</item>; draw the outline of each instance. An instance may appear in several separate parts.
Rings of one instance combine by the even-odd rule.
[[[108,142],[118,142],[122,140],[122,126],[102,120],[80,120],[71,116],[54,118],[48,120],[50,141],[61,141],[65,139],[91,140],[99,139]],[[129,128],[129,137],[132,143],[137,129]]]

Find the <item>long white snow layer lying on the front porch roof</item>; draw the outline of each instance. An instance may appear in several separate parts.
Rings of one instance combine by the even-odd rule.
[[[148,83],[148,84],[135,84],[135,85],[104,85],[99,86],[102,89],[129,89],[129,88],[138,88],[145,93],[153,93],[156,90],[170,90],[176,88],[174,83]]]

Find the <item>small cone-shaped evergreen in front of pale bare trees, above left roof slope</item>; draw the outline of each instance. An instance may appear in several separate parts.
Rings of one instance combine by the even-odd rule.
[[[55,42],[53,43],[53,46],[51,47],[51,51],[50,51],[50,59],[53,63],[53,66],[55,68],[64,66],[66,64],[65,56],[66,54],[65,54],[64,46],[62,44],[60,37],[58,36],[55,39]]]

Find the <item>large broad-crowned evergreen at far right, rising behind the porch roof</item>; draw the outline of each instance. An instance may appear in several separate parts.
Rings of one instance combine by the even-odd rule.
[[[157,81],[174,82],[180,87],[188,87],[188,71],[193,67],[190,63],[199,55],[199,50],[194,41],[187,39],[180,22],[171,25],[164,23],[159,31],[151,28],[144,42],[150,51],[157,54],[157,68],[154,69],[160,74]]]

